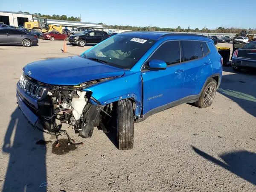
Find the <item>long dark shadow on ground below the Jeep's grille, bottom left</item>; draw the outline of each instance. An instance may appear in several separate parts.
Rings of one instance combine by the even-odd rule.
[[[13,137],[13,143],[12,138]],[[46,192],[39,187],[47,181],[46,146],[41,131],[32,128],[17,108],[11,115],[3,144],[3,153],[9,153],[9,164],[2,192]]]

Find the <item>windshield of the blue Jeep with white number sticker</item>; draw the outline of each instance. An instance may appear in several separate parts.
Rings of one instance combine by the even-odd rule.
[[[130,69],[156,41],[115,35],[91,48],[84,57],[99,59],[114,67]]]

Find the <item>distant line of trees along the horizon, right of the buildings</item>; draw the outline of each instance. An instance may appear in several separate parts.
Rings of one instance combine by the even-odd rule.
[[[157,26],[145,26],[145,27],[137,27],[137,26],[122,26],[122,25],[107,25],[105,23],[99,23],[103,26],[108,27],[108,29],[122,29],[122,30],[129,30],[129,31],[167,31],[167,32],[204,32],[204,33],[240,33],[241,30],[249,30],[250,33],[256,33],[256,29],[239,29],[239,28],[224,28],[218,27],[216,29],[208,29],[207,26],[204,26],[202,29],[183,29],[180,26],[177,28],[160,28]]]

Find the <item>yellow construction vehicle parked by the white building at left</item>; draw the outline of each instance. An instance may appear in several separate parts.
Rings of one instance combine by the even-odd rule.
[[[32,21],[25,22],[24,28],[28,29],[35,29],[38,32],[49,32],[52,30],[57,30],[58,32],[62,33],[62,26],[55,26],[55,25],[49,25],[47,23],[47,17],[36,17],[37,20],[34,19],[34,15],[32,15]]]

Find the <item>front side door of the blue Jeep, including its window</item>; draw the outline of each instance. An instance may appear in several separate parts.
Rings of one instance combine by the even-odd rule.
[[[147,70],[148,62],[153,59],[165,61],[166,70]],[[142,71],[143,114],[161,106],[168,108],[167,104],[182,99],[186,69],[181,62],[180,41],[160,45],[145,65]]]

